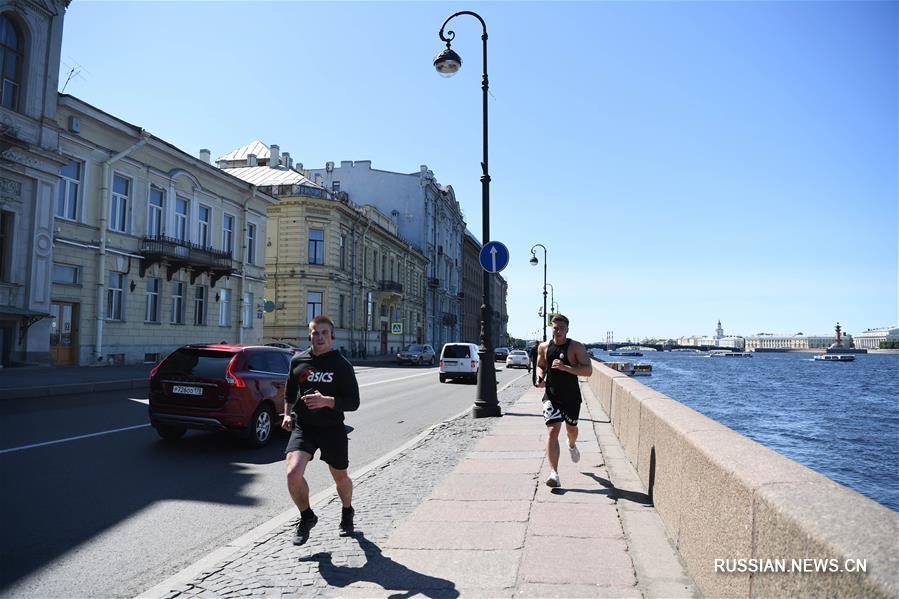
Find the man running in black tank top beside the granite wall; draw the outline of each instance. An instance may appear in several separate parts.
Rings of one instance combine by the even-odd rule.
[[[577,419],[581,411],[581,388],[577,377],[590,376],[592,362],[583,343],[568,338],[568,319],[556,314],[552,320],[553,338],[537,349],[537,386],[546,389],[543,395],[543,419],[546,422],[546,459],[549,461],[550,487],[561,486],[559,481],[559,432],[565,422],[568,452],[571,461],[581,459],[577,442]]]

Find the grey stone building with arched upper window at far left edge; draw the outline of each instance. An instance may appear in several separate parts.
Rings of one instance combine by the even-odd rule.
[[[0,2],[0,365],[50,363],[56,89],[68,0]]]

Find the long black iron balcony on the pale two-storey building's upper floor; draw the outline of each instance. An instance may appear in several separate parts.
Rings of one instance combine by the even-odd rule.
[[[166,268],[166,279],[169,281],[176,272],[183,268],[190,272],[191,285],[201,274],[208,273],[209,285],[215,287],[219,279],[234,272],[234,260],[231,258],[231,252],[215,250],[171,237],[144,237],[141,240],[139,252],[144,258],[140,265],[140,276],[142,277],[148,268],[154,264],[161,264]]]

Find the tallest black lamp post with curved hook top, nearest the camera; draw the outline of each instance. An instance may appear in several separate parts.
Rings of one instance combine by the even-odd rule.
[[[484,96],[484,159],[481,161],[481,220],[483,226],[483,239],[481,243],[487,245],[490,242],[490,173],[487,168],[487,24],[484,19],[475,12],[463,10],[451,14],[440,26],[440,39],[446,42],[446,49],[434,59],[434,68],[444,77],[451,77],[462,68],[462,58],[450,47],[456,34],[447,31],[443,34],[447,24],[460,15],[470,15],[481,23],[481,41],[484,46],[484,70],[481,77],[481,90]],[[478,369],[478,390],[471,415],[474,418],[486,418],[488,416],[502,416],[499,402],[496,400],[496,370],[493,364],[493,340],[490,335],[493,332],[493,310],[490,306],[490,273],[484,270],[483,303],[481,304],[481,346],[478,355],[481,367]]]

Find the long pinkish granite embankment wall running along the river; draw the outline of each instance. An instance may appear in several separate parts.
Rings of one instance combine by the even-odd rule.
[[[598,362],[589,385],[703,594],[899,597],[899,514]]]

